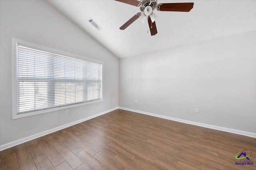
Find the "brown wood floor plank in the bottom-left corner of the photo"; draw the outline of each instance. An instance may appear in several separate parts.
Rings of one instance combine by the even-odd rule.
[[[19,170],[16,154],[8,154],[1,159],[1,170]]]

